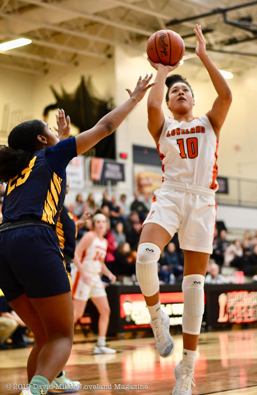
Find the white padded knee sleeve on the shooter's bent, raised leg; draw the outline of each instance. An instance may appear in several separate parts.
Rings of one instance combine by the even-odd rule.
[[[159,291],[157,261],[160,248],[153,243],[142,243],[138,246],[136,257],[136,278],[145,296],[152,296]]]

